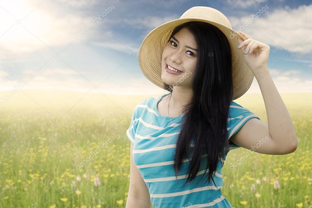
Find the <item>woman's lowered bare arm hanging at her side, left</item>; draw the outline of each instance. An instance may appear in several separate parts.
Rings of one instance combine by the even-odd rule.
[[[132,159],[133,143],[130,146],[130,184],[126,208],[150,208],[151,201],[149,190],[143,180],[141,173]]]

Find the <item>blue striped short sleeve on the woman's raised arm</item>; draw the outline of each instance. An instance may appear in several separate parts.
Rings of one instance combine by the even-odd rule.
[[[249,109],[244,108],[240,104],[232,101],[229,109],[228,116],[228,139],[231,138],[238,130],[250,119],[256,118],[261,120],[258,116],[256,116]],[[239,148],[240,146],[236,144],[230,144],[230,150]]]

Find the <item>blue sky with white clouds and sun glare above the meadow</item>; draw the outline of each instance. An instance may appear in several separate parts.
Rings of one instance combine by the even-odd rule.
[[[161,94],[139,68],[139,47],[155,27],[194,6],[219,10],[234,30],[268,7],[242,31],[270,46],[268,67],[280,93],[312,92],[312,3],[303,0],[1,0],[0,91],[19,85]],[[256,79],[253,92],[260,93]]]

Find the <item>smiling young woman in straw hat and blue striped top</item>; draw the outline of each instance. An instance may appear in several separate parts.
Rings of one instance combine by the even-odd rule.
[[[221,193],[229,150],[295,151],[295,129],[267,68],[269,51],[237,34],[210,7],[192,7],[149,33],[139,65],[169,93],[146,98],[134,109],[126,132],[131,141],[126,208],[232,207]],[[268,123],[232,101],[254,76]]]

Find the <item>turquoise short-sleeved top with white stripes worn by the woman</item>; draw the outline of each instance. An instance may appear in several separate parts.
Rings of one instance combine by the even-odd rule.
[[[202,155],[201,167],[193,181],[184,187],[188,174],[188,159],[182,162],[178,178],[175,177],[173,159],[179,126],[184,115],[176,117],[170,123],[170,117],[162,116],[157,110],[158,102],[168,94],[160,97],[148,97],[136,105],[127,137],[134,144],[132,158],[149,189],[153,208],[171,207],[232,207],[222,196],[222,167],[224,160],[219,160],[213,175],[217,187],[212,181],[208,184],[204,178],[207,154]],[[229,138],[235,134],[251,118],[258,116],[241,105],[231,102],[227,129]],[[193,143],[191,142],[191,147]],[[230,150],[240,146],[230,144]],[[191,160],[192,151],[189,159]]]

